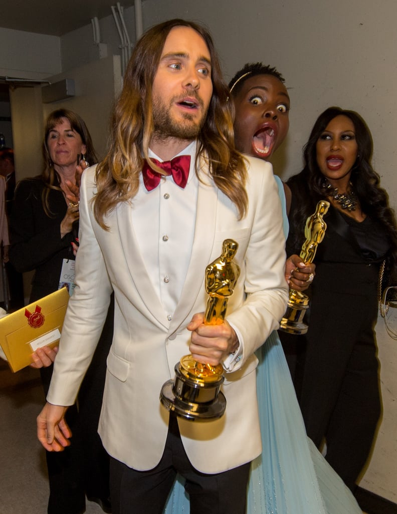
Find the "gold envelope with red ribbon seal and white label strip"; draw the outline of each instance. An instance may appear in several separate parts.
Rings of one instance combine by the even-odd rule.
[[[14,373],[32,363],[37,348],[58,344],[68,301],[62,287],[0,319],[0,345]]]

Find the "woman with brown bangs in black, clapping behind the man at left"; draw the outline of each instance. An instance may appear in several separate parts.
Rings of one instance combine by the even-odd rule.
[[[10,261],[19,272],[35,270],[30,302],[59,289],[65,282],[62,269],[64,274],[75,259],[72,243],[76,244],[78,237],[79,204],[69,187],[76,192],[78,164],[81,172],[87,161],[97,162],[91,136],[79,115],[58,109],[48,116],[43,156],[43,172],[17,185],[10,219]],[[68,409],[73,443],[61,453],[46,452],[50,485],[48,514],[84,512],[85,495],[110,512],[106,503],[109,463],[97,426],[112,335],[110,312],[79,393],[78,408],[75,405]],[[40,367],[47,393],[56,351],[40,349],[37,354],[33,355],[33,365]]]

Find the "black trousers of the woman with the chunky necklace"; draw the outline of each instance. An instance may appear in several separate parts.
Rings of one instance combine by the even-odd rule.
[[[369,292],[359,297],[327,291],[313,298],[300,397],[308,436],[317,446],[326,439],[326,460],[351,490],[381,413],[373,333],[377,299]]]

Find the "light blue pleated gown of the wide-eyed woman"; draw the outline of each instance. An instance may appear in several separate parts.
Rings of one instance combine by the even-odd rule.
[[[284,190],[275,178],[287,235]],[[251,465],[247,514],[362,514],[350,490],[306,436],[277,332],[270,334],[256,354],[262,454]],[[178,477],[165,514],[188,512],[189,498]]]

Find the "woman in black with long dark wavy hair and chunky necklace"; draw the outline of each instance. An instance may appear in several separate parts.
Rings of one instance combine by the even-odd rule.
[[[372,139],[353,111],[330,107],[304,147],[292,190],[287,252],[299,253],[305,220],[320,199],[331,206],[315,258],[300,406],[308,436],[354,491],[381,414],[374,326],[379,270],[397,278],[397,227],[371,167]]]

